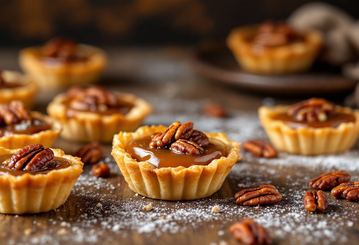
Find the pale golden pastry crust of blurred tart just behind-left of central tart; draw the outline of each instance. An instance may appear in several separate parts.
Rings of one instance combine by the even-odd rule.
[[[116,93],[121,100],[134,105],[126,114],[115,113],[101,115],[96,112],[79,111],[68,117],[64,104],[66,94],[57,95],[48,105],[47,113],[60,120],[63,130],[61,136],[65,139],[80,142],[111,142],[118,131],[134,131],[152,112],[152,106],[145,100],[130,93]]]

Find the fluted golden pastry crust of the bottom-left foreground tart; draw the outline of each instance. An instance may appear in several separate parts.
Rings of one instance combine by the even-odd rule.
[[[0,155],[15,154],[18,150],[0,147]],[[66,202],[84,164],[80,158],[65,155],[60,149],[51,150],[55,157],[69,160],[70,166],[46,174],[0,174],[0,213],[41,213]]]

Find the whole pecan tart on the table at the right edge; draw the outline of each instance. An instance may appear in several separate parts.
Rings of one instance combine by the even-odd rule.
[[[262,106],[259,118],[278,150],[303,155],[343,152],[359,136],[359,110],[320,98],[292,106]]]

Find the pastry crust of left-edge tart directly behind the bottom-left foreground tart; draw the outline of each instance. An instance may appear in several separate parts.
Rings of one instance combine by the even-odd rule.
[[[12,134],[0,137],[0,146],[8,149],[23,148],[31,144],[42,144],[45,148],[51,147],[61,132],[61,124],[53,117],[32,111],[31,116],[42,119],[51,125],[51,129],[36,134]]]

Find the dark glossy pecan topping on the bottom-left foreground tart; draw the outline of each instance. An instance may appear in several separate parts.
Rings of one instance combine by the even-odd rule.
[[[8,168],[31,171],[46,167],[52,163],[54,154],[50,148],[41,144],[25,146],[15,153],[9,160]]]

